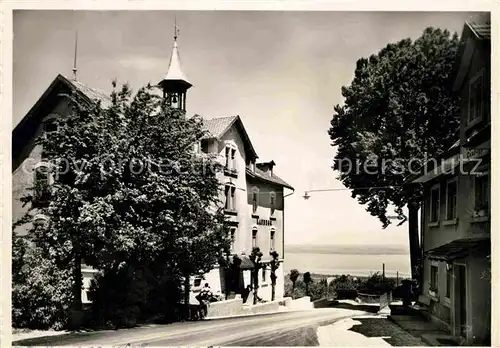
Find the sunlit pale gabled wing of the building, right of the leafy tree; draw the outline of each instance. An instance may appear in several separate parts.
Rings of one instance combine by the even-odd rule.
[[[274,172],[275,163],[258,163],[257,154],[239,116],[204,122],[208,136],[200,152],[218,154],[224,170],[219,180],[224,185],[221,201],[230,224],[231,250],[242,260],[241,287],[250,285],[253,264],[249,255],[254,247],[263,253],[264,267],[259,271],[259,297],[271,299],[270,253],[276,251],[281,262],[277,270],[276,298],[284,295],[284,207],[285,190],[293,190]],[[218,268],[193,279],[193,290],[206,282],[216,292],[225,293],[224,271]]]

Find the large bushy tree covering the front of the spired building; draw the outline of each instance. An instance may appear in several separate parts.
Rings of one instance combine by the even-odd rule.
[[[49,223],[32,238],[61,267],[71,265],[76,311],[82,262],[104,273],[161,263],[189,279],[229,248],[220,165],[193,150],[202,119],[167,106],[154,88],[132,96],[124,85],[106,109],[67,95],[70,115],[37,140],[54,183],[48,205],[36,208]]]

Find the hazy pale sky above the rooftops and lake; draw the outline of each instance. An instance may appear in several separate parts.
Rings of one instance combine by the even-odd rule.
[[[428,26],[461,33],[471,13],[263,11],[15,11],[13,126],[58,73],[134,90],[166,73],[174,16],[188,115],[240,115],[260,161],[295,188],[285,200],[286,244],[408,245],[407,224],[385,230],[342,188],[327,134],[356,61]]]

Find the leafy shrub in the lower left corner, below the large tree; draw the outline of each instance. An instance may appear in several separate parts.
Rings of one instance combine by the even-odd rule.
[[[60,269],[40,248],[12,237],[12,326],[63,329],[72,300],[71,269]]]

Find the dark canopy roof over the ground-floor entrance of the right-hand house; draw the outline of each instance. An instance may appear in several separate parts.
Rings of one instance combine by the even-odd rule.
[[[490,238],[464,238],[456,239],[437,248],[428,250],[424,254],[429,259],[452,261],[462,258],[472,252],[490,253]]]

